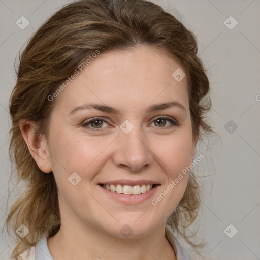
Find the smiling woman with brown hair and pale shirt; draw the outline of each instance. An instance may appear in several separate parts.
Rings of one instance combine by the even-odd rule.
[[[26,189],[14,259],[191,259],[192,167],[211,103],[189,30],[144,0],[73,2],[20,56],[10,155]],[[201,104],[201,101],[204,103]]]

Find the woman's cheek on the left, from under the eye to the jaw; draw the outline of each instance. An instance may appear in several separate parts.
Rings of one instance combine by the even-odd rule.
[[[72,133],[72,132],[71,132]],[[91,180],[99,172],[99,156],[107,142],[97,142],[84,136],[70,134],[69,131],[53,133],[51,145],[51,164],[57,187],[61,196],[60,205],[70,205],[82,214],[95,204],[91,193]],[[76,173],[76,175],[75,175]],[[73,184],[73,180],[76,181]],[[90,193],[89,193],[90,192]]]

